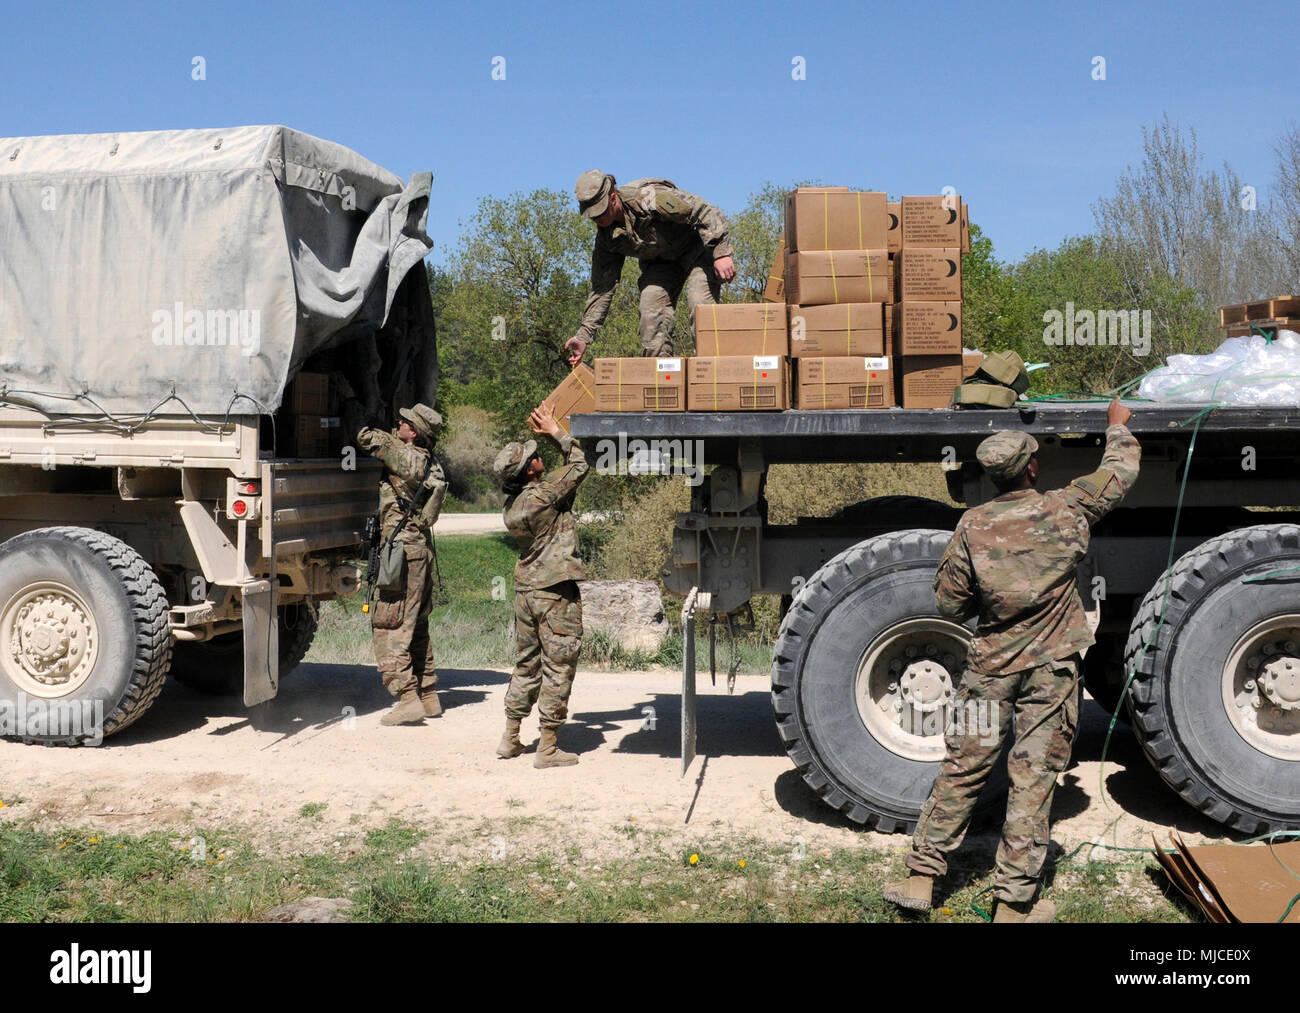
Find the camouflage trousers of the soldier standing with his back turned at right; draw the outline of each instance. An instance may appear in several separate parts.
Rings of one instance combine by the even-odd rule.
[[[957,691],[956,714],[987,709],[988,719],[954,722],[944,744],[948,754],[920,810],[907,866],[923,875],[948,871],[945,856],[962,843],[980,788],[1006,741],[1010,793],[997,849],[994,896],[1010,904],[1034,900],[1050,841],[1048,814],[1057,775],[1070,762],[1079,726],[1080,657],[1006,675],[966,671]]]

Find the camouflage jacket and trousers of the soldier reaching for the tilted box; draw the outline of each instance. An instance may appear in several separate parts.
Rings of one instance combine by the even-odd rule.
[[[589,467],[577,440],[563,436],[559,445],[566,464],[506,502],[506,528],[520,553],[515,566],[519,662],[506,691],[506,715],[523,720],[536,702],[543,728],[558,728],[568,717],[582,646],[582,599],[577,589],[582,559],[573,495]]]

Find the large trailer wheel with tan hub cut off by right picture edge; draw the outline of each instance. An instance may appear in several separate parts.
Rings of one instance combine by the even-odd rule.
[[[1147,593],[1124,651],[1147,758],[1190,805],[1244,834],[1300,826],[1297,566],[1295,524],[1210,538]]]

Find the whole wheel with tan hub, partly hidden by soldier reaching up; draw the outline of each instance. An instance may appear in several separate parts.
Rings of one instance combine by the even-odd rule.
[[[950,538],[900,531],[835,557],[794,596],[772,651],[772,710],[790,759],[827,805],[864,827],[915,827],[944,757],[940,715],[970,641],[967,627],[935,611]],[[983,806],[1000,787],[1005,774]]]

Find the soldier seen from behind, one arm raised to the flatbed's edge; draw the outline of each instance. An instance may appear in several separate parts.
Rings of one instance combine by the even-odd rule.
[[[1039,445],[1028,433],[994,433],[976,450],[1000,495],[962,515],[935,576],[935,601],[957,622],[979,616],[953,706],[958,715],[968,706],[989,707],[992,720],[979,720],[980,730],[976,722],[949,726],[946,757],[907,856],[911,876],[885,887],[885,899],[900,906],[930,909],[935,878],[966,835],[1014,727],[993,921],[1050,921],[1054,914],[1050,901],[1031,905],[1050,840],[1056,779],[1074,745],[1082,651],[1093,642],[1075,570],[1088,551],[1091,525],[1138,479],[1141,447],[1124,425],[1128,417],[1113,402],[1100,471],[1045,494],[1034,489]]]

